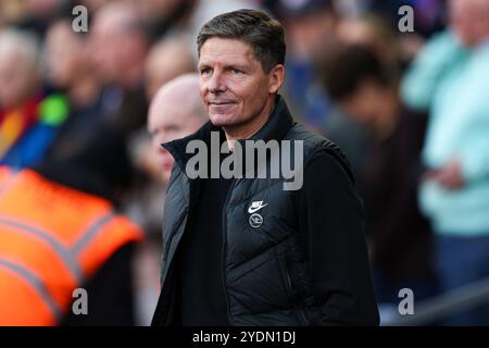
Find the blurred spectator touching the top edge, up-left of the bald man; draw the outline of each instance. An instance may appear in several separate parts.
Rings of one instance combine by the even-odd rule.
[[[89,32],[90,53],[104,84],[104,115],[126,135],[146,123],[145,60],[149,38],[137,8],[129,2],[101,7]]]

